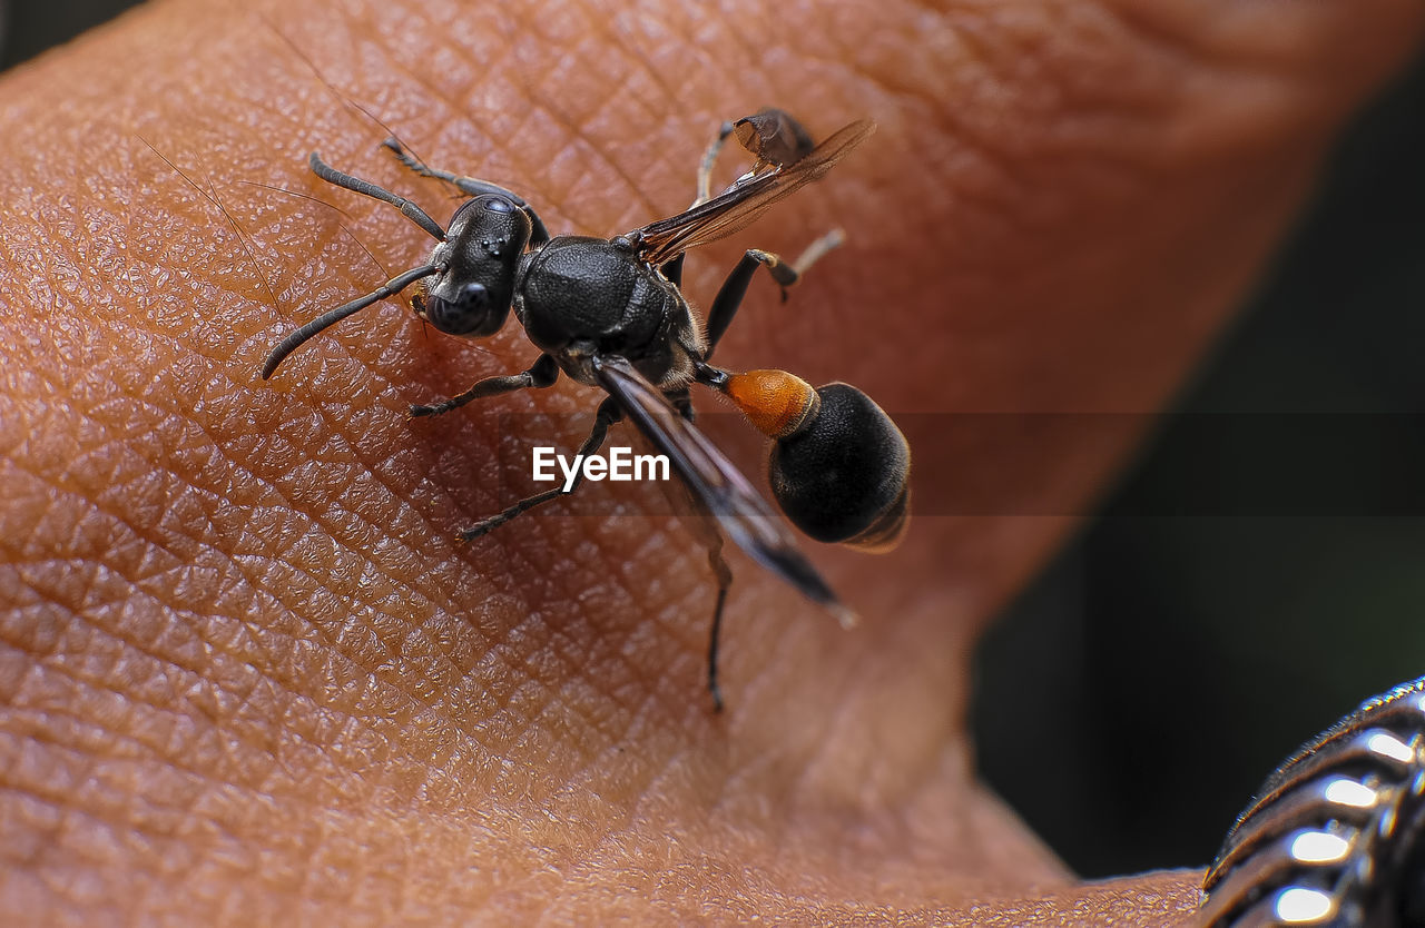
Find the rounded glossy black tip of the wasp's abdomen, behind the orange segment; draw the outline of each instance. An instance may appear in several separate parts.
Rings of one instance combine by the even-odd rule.
[[[906,525],[911,448],[891,417],[861,390],[817,390],[811,421],[772,447],[777,504],[811,538],[889,549]]]

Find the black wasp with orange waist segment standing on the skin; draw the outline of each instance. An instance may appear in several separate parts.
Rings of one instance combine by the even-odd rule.
[[[561,370],[579,383],[601,387],[608,396],[598,404],[580,454],[597,451],[608,426],[627,416],[668,457],[695,500],[732,541],[849,625],[851,611],[801,554],[781,520],[694,428],[690,397],[693,383],[718,390],[774,440],[772,494],[809,537],[872,549],[888,549],[899,541],[906,524],[911,454],[905,437],[881,407],[844,383],[814,390],[785,371],[732,373],[710,363],[757,268],[767,268],[785,299],[787,288],[839,243],[839,233],[818,239],[794,263],[770,252],[748,251],[712,300],[705,329],[698,326],[678,288],[687,251],[742,229],[777,201],[826,174],[874,130],[874,122],[861,120],[815,145],[795,120],[778,110],[725,122],[698,168],[693,206],[611,239],[550,238],[534,209],[510,191],[428,168],[396,139],[388,139],[385,147],[406,168],[449,182],[470,196],[456,209],[450,228],[442,229],[409,199],[342,174],[312,152],[309,162],[316,176],[396,206],[437,243],[428,263],[284,339],[268,356],[262,377],[271,377],[288,354],[322,329],[416,282],[419,289],[412,297],[416,315],[450,334],[493,334],[513,309],[542,352],[529,370],[487,377],[433,406],[413,406],[412,416],[437,416],[472,400],[549,387]],[[714,196],[712,164],[731,135],[757,162]],[[570,490],[574,487],[577,481]],[[460,538],[479,538],[563,492],[560,487],[520,500],[460,532]],[[718,709],[722,706],[717,685],[718,632],[732,582],[721,548],[721,538],[712,532],[708,562],[718,589],[708,646],[708,689]]]

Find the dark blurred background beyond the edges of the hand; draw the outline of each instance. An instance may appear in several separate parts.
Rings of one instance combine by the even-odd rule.
[[[128,6],[0,1],[0,67]],[[1425,60],[1361,114],[1178,416],[980,648],[982,770],[1083,875],[1207,863],[1297,743],[1425,673],[1422,353]],[[1253,505],[1263,467],[1230,453],[1253,423],[1290,423],[1305,454],[1241,447],[1321,505]]]

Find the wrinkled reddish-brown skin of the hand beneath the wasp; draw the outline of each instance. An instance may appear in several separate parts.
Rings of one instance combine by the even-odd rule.
[[[963,733],[975,635],[1136,430],[992,441],[916,414],[1160,407],[1425,7],[808,6],[174,1],[3,80],[0,908],[34,924],[1190,917],[1197,871],[1074,885],[975,784]],[[453,542],[527,491],[530,444],[567,450],[579,423],[559,417],[596,403],[564,380],[489,401],[519,414],[503,424],[405,420],[526,367],[513,320],[466,343],[388,302],[259,380],[281,336],[430,246],[316,181],[308,151],[442,223],[456,205],[312,65],[554,233],[684,206],[722,118],[775,104],[818,137],[878,121],[685,279],[705,306],[740,249],[849,232],[785,306],[760,276],[718,360],[856,383],[912,433],[905,544],[812,551],[856,631],[734,555],[715,716],[697,538],[668,515],[608,517],[657,508],[657,488],[589,485]],[[708,430],[755,471],[745,438]],[[1005,492],[1027,495],[963,505]],[[1046,763],[1026,737],[1026,763]]]

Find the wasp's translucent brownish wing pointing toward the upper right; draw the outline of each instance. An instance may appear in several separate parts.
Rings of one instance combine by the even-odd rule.
[[[777,201],[831,171],[875,130],[876,124],[871,120],[844,125],[805,158],[745,176],[712,199],[634,229],[624,238],[634,242],[638,255],[650,265],[661,265],[698,245],[732,235]]]

